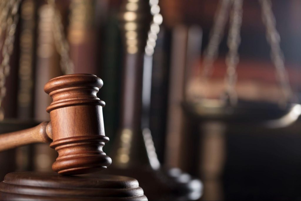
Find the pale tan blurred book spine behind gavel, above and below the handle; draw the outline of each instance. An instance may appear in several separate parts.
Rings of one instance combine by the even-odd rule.
[[[38,9],[38,42],[36,54],[36,96],[35,118],[38,121],[49,121],[46,108],[51,103],[51,98],[44,92],[45,84],[54,77],[60,76],[59,57],[55,51],[52,33],[52,17],[54,11],[45,4]],[[55,161],[57,153],[48,144],[35,145],[34,169],[35,171],[50,171],[51,164]]]

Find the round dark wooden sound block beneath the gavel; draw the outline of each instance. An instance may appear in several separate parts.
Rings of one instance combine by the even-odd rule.
[[[116,175],[61,176],[13,172],[0,183],[0,200],[147,200],[136,179]]]

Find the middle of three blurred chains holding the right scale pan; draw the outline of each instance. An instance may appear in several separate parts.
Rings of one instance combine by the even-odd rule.
[[[228,33],[227,45],[229,51],[226,55],[227,75],[225,77],[226,85],[226,100],[231,105],[237,103],[237,94],[235,91],[235,85],[237,81],[236,67],[239,62],[238,48],[240,45],[240,28],[243,14],[243,0],[232,0],[233,8],[230,17],[230,28]]]

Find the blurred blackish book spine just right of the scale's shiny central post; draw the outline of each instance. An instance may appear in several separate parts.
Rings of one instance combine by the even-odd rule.
[[[150,130],[160,162],[164,162],[166,137],[166,107],[169,80],[169,51],[166,48],[169,32],[160,28],[153,55],[151,81]]]

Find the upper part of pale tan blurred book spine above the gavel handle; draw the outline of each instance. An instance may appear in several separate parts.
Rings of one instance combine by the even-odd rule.
[[[46,107],[51,103],[51,98],[44,92],[45,84],[53,77],[59,76],[59,55],[55,51],[52,33],[52,17],[54,11],[51,6],[41,5],[38,10],[38,41],[36,52],[36,104],[35,118],[38,121],[50,119]]]

